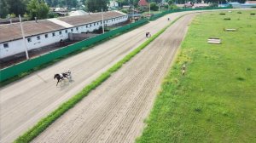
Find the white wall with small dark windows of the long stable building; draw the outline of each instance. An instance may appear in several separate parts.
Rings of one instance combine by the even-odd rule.
[[[105,26],[112,26],[114,24],[118,24],[126,20],[128,20],[128,15],[124,15],[119,18],[104,20],[104,22]],[[60,30],[61,33],[60,31],[52,31],[49,33],[44,33],[32,37],[26,37],[27,49],[38,49],[52,43],[59,43],[61,39],[66,40],[68,38],[68,32],[81,33],[87,31],[94,31],[96,29],[99,29],[101,26],[102,21],[96,21],[94,23],[89,23],[84,26],[74,26],[72,28]],[[55,36],[53,36],[53,33],[55,33]],[[48,35],[48,37],[45,37],[46,34]],[[30,42],[28,42],[29,38]],[[7,43],[9,45],[9,48],[4,48],[4,43],[0,43],[0,59],[3,59],[14,54],[19,54],[21,52],[25,52],[25,44],[23,42],[23,39],[18,39]]]

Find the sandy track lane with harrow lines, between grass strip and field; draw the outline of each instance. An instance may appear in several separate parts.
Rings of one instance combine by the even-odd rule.
[[[134,142],[194,16],[177,20],[33,142]]]

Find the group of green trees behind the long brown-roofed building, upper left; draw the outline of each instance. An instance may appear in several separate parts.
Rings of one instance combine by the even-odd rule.
[[[78,0],[0,0],[0,17],[16,17],[20,14],[28,19],[45,19],[49,17],[50,7],[71,9],[84,4],[87,11],[96,12],[107,10],[108,3],[109,0],[80,0],[80,3]]]

